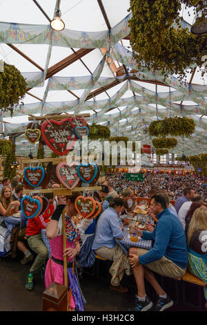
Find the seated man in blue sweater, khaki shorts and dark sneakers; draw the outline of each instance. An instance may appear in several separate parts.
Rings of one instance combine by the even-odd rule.
[[[166,198],[152,196],[150,210],[157,215],[157,225],[153,232],[141,232],[143,239],[155,241],[151,250],[130,248],[129,261],[137,283],[137,296],[132,310],[146,311],[152,309],[152,301],[146,296],[144,277],[155,289],[158,299],[153,310],[162,311],[172,306],[173,301],[159,286],[153,272],[164,277],[178,279],[184,276],[188,265],[186,237],[177,217],[167,209]]]

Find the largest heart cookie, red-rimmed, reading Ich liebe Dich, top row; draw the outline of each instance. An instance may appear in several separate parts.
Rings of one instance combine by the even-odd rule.
[[[68,151],[75,145],[77,136],[70,125],[70,118],[61,122],[49,120],[41,126],[41,136],[46,145],[60,156],[68,154]]]

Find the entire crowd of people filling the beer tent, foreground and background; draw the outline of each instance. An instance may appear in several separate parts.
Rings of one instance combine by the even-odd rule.
[[[165,310],[173,301],[161,288],[154,272],[161,276],[178,279],[186,269],[202,279],[207,301],[207,204],[204,180],[195,176],[172,176],[168,174],[144,174],[141,183],[126,180],[125,174],[110,173],[101,189],[94,192],[101,203],[101,212],[95,219],[81,218],[75,207],[75,199],[81,192],[70,196],[43,194],[48,207],[39,216],[26,219],[21,212],[23,184],[18,178],[4,178],[0,185],[0,256],[8,252],[12,258],[18,252],[23,255],[21,263],[28,264],[26,290],[34,287],[34,276],[41,271],[45,286],[52,281],[64,283],[63,257],[68,263],[68,282],[72,287],[71,310],[83,310],[86,300],[79,286],[78,272],[72,272],[73,261],[77,269],[91,267],[96,255],[112,261],[110,267],[110,290],[128,292],[121,285],[124,275],[134,275],[137,284],[135,306],[130,310]],[[60,187],[57,183],[52,188]],[[129,248],[128,254],[119,245],[123,239],[129,216],[137,205],[138,197],[150,198],[148,216],[153,223],[146,223],[144,230],[138,229],[142,239],[151,240],[152,248],[144,250]],[[170,200],[175,200],[175,205]],[[63,250],[63,210],[66,214],[66,249]],[[11,224],[9,216],[20,213],[21,223]],[[121,219],[121,216],[125,216]],[[8,230],[9,249],[6,245]],[[47,242],[43,238],[45,231]],[[7,242],[8,244],[8,242]],[[3,249],[2,249],[3,247]],[[49,256],[50,248],[50,256]],[[146,295],[144,278],[157,293],[152,301]],[[207,308],[207,302],[206,302]]]

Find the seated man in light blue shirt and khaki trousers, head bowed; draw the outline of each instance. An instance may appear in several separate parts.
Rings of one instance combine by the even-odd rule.
[[[121,198],[114,198],[109,207],[103,211],[97,222],[95,239],[92,243],[92,250],[103,259],[113,261],[110,267],[112,279],[110,289],[118,293],[127,293],[128,288],[121,286],[120,281],[124,274],[130,275],[130,264],[128,257],[121,247],[115,242],[115,239],[123,238],[124,226],[121,224],[119,214],[124,207],[124,201]]]

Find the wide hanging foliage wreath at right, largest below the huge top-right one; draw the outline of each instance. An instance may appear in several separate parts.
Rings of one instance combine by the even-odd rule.
[[[150,123],[148,128],[150,136],[186,136],[195,131],[195,122],[191,118],[165,118]]]

